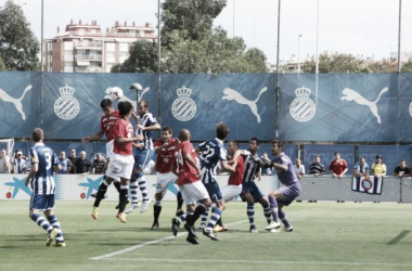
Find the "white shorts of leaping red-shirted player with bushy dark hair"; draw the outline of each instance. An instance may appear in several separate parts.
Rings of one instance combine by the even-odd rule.
[[[133,155],[120,155],[113,153],[111,163],[108,163],[106,176],[115,180],[118,178],[129,180],[131,172],[133,171]]]

